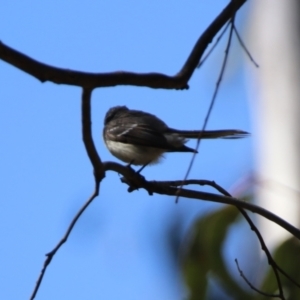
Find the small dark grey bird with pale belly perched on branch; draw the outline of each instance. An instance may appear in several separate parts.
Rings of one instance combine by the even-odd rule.
[[[197,153],[185,145],[189,139],[242,138],[243,130],[177,130],[153,114],[129,109],[110,108],[104,118],[103,139],[112,155],[129,165],[158,163],[166,152]]]

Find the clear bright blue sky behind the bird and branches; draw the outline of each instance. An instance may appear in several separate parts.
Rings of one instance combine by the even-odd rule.
[[[176,73],[227,1],[14,1],[0,10],[0,40],[44,63],[87,72]],[[237,21],[243,32],[245,6]],[[93,93],[93,136],[103,160],[103,118],[111,106],[156,114],[169,126],[200,129],[215,87],[224,43],[197,70],[186,91],[137,87]],[[251,131],[243,63],[235,42],[208,129]],[[249,63],[249,62],[247,62]],[[28,299],[44,261],[93,191],[81,138],[77,87],[40,83],[0,61],[1,299]],[[194,141],[189,142],[193,147]],[[146,168],[151,180],[182,179],[190,154],[168,154]],[[190,178],[229,189],[252,170],[251,138],[204,141]],[[203,188],[204,190],[207,190]],[[182,299],[185,288],[164,234],[185,227],[215,204],[127,193],[107,173],[100,196],[49,266],[36,299]]]

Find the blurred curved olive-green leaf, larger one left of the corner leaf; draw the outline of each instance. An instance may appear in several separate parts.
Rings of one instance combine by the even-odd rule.
[[[235,299],[253,299],[231,277],[222,256],[222,246],[229,227],[237,220],[239,211],[227,206],[199,219],[193,226],[185,256],[183,272],[190,289],[190,300],[205,299],[208,275]]]

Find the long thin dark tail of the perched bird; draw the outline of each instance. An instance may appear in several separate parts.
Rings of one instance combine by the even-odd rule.
[[[169,128],[170,133],[176,133],[187,139],[240,139],[249,136],[249,133],[238,129],[225,130],[176,130]]]

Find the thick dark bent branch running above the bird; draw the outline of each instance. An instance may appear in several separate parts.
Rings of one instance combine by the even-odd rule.
[[[196,42],[182,69],[175,76],[160,73],[87,73],[56,68],[38,62],[0,42],[0,59],[36,77],[41,82],[51,81],[57,84],[82,86],[85,88],[108,87],[116,85],[147,86],[164,89],[186,89],[197,64],[214,36],[231,19],[247,0],[231,1],[219,16],[205,30]]]

